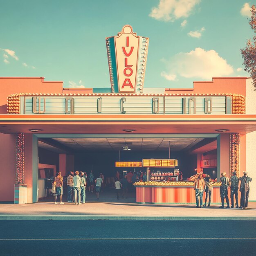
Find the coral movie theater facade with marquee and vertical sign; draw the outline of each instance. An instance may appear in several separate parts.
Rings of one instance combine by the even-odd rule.
[[[47,175],[78,169],[83,154],[95,172],[106,155],[109,177],[119,170],[117,160],[126,163],[120,171],[124,166],[129,171],[132,162],[174,158],[175,166],[149,166],[148,180],[153,173],[166,175],[177,168],[184,181],[200,168],[216,182],[222,171],[231,176],[235,170],[240,175],[247,170],[255,180],[252,80],[213,77],[189,89],[144,88],[148,43],[129,25],[106,38],[109,88],[72,89],[43,77],[0,77],[0,201],[38,202],[47,195]],[[124,146],[131,150],[124,152]],[[152,192],[157,185],[152,191],[137,189],[137,202],[194,201],[191,186],[173,186],[169,192]],[[161,195],[154,199],[152,193]],[[256,200],[254,182],[249,199]]]

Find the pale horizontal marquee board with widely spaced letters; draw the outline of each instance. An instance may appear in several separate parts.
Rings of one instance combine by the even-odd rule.
[[[231,114],[229,96],[21,96],[20,114]]]

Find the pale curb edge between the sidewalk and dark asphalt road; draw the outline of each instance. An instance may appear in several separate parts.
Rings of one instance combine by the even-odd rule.
[[[99,215],[0,215],[0,220],[256,220],[256,217],[227,216],[99,216]]]

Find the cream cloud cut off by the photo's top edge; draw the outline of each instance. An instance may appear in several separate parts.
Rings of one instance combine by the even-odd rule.
[[[159,0],[158,7],[153,7],[150,17],[156,20],[174,21],[189,17],[193,8],[201,0]]]

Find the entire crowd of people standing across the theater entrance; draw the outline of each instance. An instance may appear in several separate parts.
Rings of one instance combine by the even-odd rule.
[[[248,207],[248,198],[249,198],[249,182],[252,181],[252,178],[247,176],[247,171],[243,172],[243,177],[237,177],[236,171],[232,173],[231,178],[227,177],[225,172],[221,173],[220,177],[220,198],[221,198],[221,206],[220,208],[224,208],[224,202],[226,200],[227,207],[226,208],[240,208],[246,209]],[[146,181],[147,176],[145,172],[139,171],[137,173],[133,173],[132,171],[128,172],[124,177],[121,177],[119,171],[115,174],[115,191],[117,194],[117,200],[121,198],[127,198],[128,192],[135,192],[135,187],[133,183],[137,181]],[[194,182],[195,189],[195,199],[196,199],[196,207],[209,207],[211,204],[211,195],[213,190],[213,181],[211,177],[207,174],[203,174],[199,172],[192,177],[190,177],[190,181]],[[54,179],[52,192],[54,193],[54,203],[57,204],[57,198],[59,196],[60,204],[64,204],[62,202],[63,195],[63,182],[67,184],[67,202],[73,202],[74,204],[84,204],[85,203],[85,192],[88,193],[96,192],[97,200],[99,200],[99,193],[102,188],[105,186],[104,183],[104,175],[100,173],[97,177],[94,176],[93,171],[90,171],[89,175],[83,171],[70,171],[68,176],[63,181],[63,177],[61,176],[61,172],[56,174]],[[240,182],[240,207],[238,203],[238,187]],[[228,196],[228,188],[230,187],[230,201]],[[205,201],[203,202],[203,194],[205,192]],[[236,204],[234,204],[234,197],[236,200]]]

